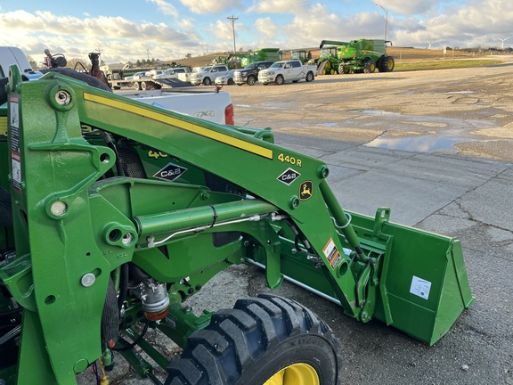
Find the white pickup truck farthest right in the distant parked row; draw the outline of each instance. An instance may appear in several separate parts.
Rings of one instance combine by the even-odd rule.
[[[267,86],[269,83],[282,85],[286,81],[297,83],[299,80],[305,79],[311,82],[315,78],[317,66],[303,65],[301,61],[276,61],[267,70],[258,72],[258,83]]]

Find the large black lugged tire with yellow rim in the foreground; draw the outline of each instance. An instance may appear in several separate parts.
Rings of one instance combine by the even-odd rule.
[[[166,385],[336,385],[338,341],[306,307],[271,295],[239,299],[193,332]]]

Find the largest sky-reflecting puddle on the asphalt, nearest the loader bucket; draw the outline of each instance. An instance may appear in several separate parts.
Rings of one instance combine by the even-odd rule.
[[[379,137],[365,144],[368,147],[386,148],[388,150],[401,150],[408,152],[435,152],[436,150],[458,150],[454,144],[467,142],[463,136],[394,136]]]

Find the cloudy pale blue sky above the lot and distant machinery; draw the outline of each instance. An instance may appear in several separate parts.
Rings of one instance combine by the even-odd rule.
[[[509,47],[512,20],[511,0],[0,0],[0,45],[37,62],[45,48],[86,62],[100,51],[107,63],[179,60],[234,45],[308,48],[385,33],[403,47]]]

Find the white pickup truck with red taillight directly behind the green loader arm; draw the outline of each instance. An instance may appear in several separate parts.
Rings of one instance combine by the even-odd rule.
[[[4,104],[7,100],[4,86],[7,84],[9,67],[12,64],[16,64],[20,68],[22,75],[27,80],[37,80],[37,78],[41,78],[44,75],[43,72],[32,70],[25,54],[19,48],[0,46],[0,105]],[[67,74],[77,74],[77,72],[69,69],[53,70],[67,70]],[[84,74],[81,75],[84,76]],[[96,79],[93,78],[93,80]],[[118,94],[215,123],[233,124],[233,105],[230,94],[226,92],[202,92],[199,90],[192,92],[189,88],[181,91],[171,89],[170,92],[153,90],[146,92],[120,92]],[[2,127],[2,122],[0,122],[0,127]],[[1,130],[0,135],[2,135]]]

